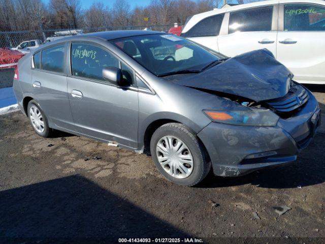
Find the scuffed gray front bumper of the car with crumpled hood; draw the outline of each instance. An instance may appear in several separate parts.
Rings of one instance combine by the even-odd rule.
[[[297,159],[320,125],[320,109],[309,93],[308,102],[276,127],[232,126],[210,123],[199,134],[215,175],[239,176]]]

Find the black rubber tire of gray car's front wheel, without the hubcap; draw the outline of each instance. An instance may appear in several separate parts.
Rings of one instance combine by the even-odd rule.
[[[164,170],[158,161],[156,153],[157,143],[160,138],[168,135],[178,137],[180,140],[182,140],[192,154],[193,169],[189,176],[186,178],[173,177],[171,174]],[[179,123],[169,123],[159,127],[151,137],[150,151],[153,162],[155,163],[160,173],[163,174],[165,178],[177,185],[187,187],[197,185],[207,176],[211,170],[211,162],[202,143],[194,133]]]

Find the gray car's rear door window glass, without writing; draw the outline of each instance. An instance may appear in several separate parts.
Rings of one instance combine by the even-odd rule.
[[[58,45],[42,50],[42,70],[64,73],[64,52],[66,45]]]

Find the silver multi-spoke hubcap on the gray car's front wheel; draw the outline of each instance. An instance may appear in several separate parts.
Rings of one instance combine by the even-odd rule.
[[[175,136],[161,137],[156,155],[163,169],[175,178],[186,178],[193,170],[193,157],[186,144]]]

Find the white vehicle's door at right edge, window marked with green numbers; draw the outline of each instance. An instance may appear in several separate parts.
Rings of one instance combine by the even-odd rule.
[[[277,59],[304,83],[325,82],[325,6],[283,4]]]

